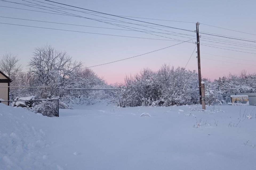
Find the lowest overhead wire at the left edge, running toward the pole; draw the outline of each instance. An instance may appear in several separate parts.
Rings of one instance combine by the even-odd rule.
[[[0,22],[0,24],[18,25],[18,26],[23,26],[23,27],[33,27],[33,28],[43,28],[43,29],[53,29],[53,30],[60,30],[60,31],[81,32],[81,33],[98,34],[98,35],[109,35],[109,36],[118,36],[118,37],[129,37],[129,38],[150,39],[150,40],[165,40],[165,39],[154,39],[154,38],[144,38],[144,37],[133,37],[133,36],[122,36],[122,35],[102,34],[102,33],[83,32],[83,31],[73,31],[73,30],[67,30],[67,29],[36,27],[36,26],[30,26],[30,25],[10,24],[10,23],[1,23],[1,22]],[[165,40],[165,41],[182,41],[182,40]]]

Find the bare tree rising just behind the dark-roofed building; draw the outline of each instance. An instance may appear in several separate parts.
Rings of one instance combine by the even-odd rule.
[[[19,58],[12,53],[6,53],[0,60],[0,70],[10,79],[15,80],[22,70],[22,66],[18,63]]]

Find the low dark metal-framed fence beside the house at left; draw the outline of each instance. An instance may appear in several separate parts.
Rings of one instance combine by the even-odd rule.
[[[34,113],[41,113],[43,116],[59,117],[59,99],[40,100],[5,100],[0,101],[12,107],[22,107]]]

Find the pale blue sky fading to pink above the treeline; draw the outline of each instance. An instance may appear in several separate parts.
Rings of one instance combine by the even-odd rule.
[[[37,1],[41,1],[41,2],[50,3],[43,0],[37,0],[37,1],[26,0],[27,2],[22,0],[6,0],[6,1],[16,2],[16,3],[26,3],[31,5],[35,5],[32,3],[37,3],[44,6],[54,7],[48,4],[37,2]],[[60,0],[54,0],[54,1],[72,5],[72,6],[81,7],[81,8],[86,8],[94,11],[113,14],[113,15],[133,16],[133,17],[172,20],[172,21],[133,18],[133,19],[137,19],[145,22],[168,26],[166,28],[163,28],[163,27],[155,27],[157,25],[137,22],[133,20],[127,20],[127,19],[118,18],[114,16],[109,16],[109,15],[62,10],[62,11],[70,12],[72,14],[83,16],[86,18],[111,20],[111,23],[125,25],[126,28],[123,28],[123,27],[118,27],[116,25],[110,25],[107,23],[86,19],[82,17],[47,14],[43,12],[15,9],[15,8],[23,8],[23,9],[29,9],[29,10],[51,12],[51,11],[46,11],[46,10],[24,6],[20,4],[3,2],[0,0],[0,11],[1,11],[0,12],[0,16],[1,16],[0,17],[0,22],[1,22],[0,23],[0,26],[1,26],[0,27],[1,28],[0,56],[3,56],[5,53],[9,53],[9,52],[15,55],[17,54],[18,58],[21,59],[20,64],[22,64],[23,70],[26,70],[27,62],[29,62],[34,49],[48,44],[53,46],[57,50],[66,51],[74,60],[82,61],[85,67],[90,67],[94,65],[99,65],[103,63],[108,63],[116,60],[121,60],[124,58],[137,56],[140,54],[148,53],[154,50],[165,48],[167,46],[175,45],[175,44],[181,43],[182,41],[187,41],[194,38],[193,40],[194,43],[192,43],[192,41],[184,42],[182,44],[175,45],[175,46],[172,46],[163,50],[159,50],[153,53],[145,54],[139,57],[134,57],[128,60],[91,68],[100,77],[103,77],[107,83],[116,83],[116,82],[120,83],[120,82],[123,82],[124,77],[126,75],[134,75],[136,73],[139,73],[139,71],[141,71],[143,68],[158,70],[161,67],[161,65],[163,65],[164,63],[170,64],[171,66],[174,66],[174,67],[178,67],[178,66],[185,67],[193,50],[196,47],[196,44],[195,44],[196,33],[192,32],[196,29],[196,24],[195,24],[196,22],[200,23],[199,32],[209,32],[209,33],[214,33],[219,35],[239,37],[243,39],[250,39],[251,41],[256,40],[256,35],[252,35],[252,34],[256,34],[255,33],[256,23],[254,22],[255,16],[256,16],[256,12],[255,12],[256,2],[253,0],[251,1],[249,0],[248,1],[236,1],[236,0],[234,1],[225,1],[225,0],[222,0],[222,1],[218,1],[218,0],[216,1],[196,1],[196,0],[195,1],[167,1],[167,0],[159,0],[159,1],[151,1],[151,0],[147,0],[147,1],[144,1],[144,0],[143,1],[139,1],[139,0],[67,1],[67,0],[63,0],[63,1],[60,1]],[[55,5],[58,5],[58,4],[55,4]],[[2,7],[2,6],[7,6],[7,7]],[[15,7],[15,8],[8,8],[8,7]],[[67,7],[67,6],[63,6],[63,7]],[[71,7],[68,7],[68,8],[71,8]],[[47,9],[55,10],[50,8],[47,8]],[[76,9],[76,8],[72,8],[72,9]],[[81,10],[81,9],[76,9],[76,10]],[[83,11],[88,12],[86,10],[83,10]],[[98,16],[95,16],[95,15],[98,15]],[[103,18],[101,16],[107,17],[110,19]],[[151,31],[151,34],[140,32],[140,31],[93,28],[93,27],[85,27],[85,26],[77,26],[77,25],[64,25],[64,24],[10,19],[10,18],[3,18],[3,17],[68,23],[68,24],[86,25],[86,26],[94,26],[94,27],[115,28],[115,29],[127,29],[127,26],[130,26],[129,27],[130,29],[128,28],[128,30],[131,30],[131,29],[138,30],[138,28],[140,28],[139,30],[145,31],[146,29],[147,31]],[[116,21],[113,19],[134,23],[134,24],[112,22],[112,21]],[[179,22],[174,22],[174,21],[179,21]],[[65,29],[65,30],[111,34],[111,35],[119,35],[119,36],[98,35],[98,34],[91,34],[91,33],[70,32],[70,31],[61,31],[61,30],[52,30],[52,29],[43,29],[43,28],[34,28],[34,27],[23,27],[18,25],[7,25],[2,23],[30,25],[30,26],[36,26],[36,27]],[[145,27],[138,24],[146,24],[150,26]],[[205,24],[213,25],[216,27],[211,27]],[[131,27],[134,27],[134,28],[131,28]],[[180,29],[173,29],[169,27],[181,28],[181,29],[186,29],[190,31],[182,31]],[[235,32],[235,31],[221,29],[217,27],[233,29],[233,30],[246,32],[246,33]],[[157,29],[154,29],[154,28],[157,28]],[[172,35],[155,33],[155,32],[152,33],[152,31],[170,33]],[[251,33],[251,34],[248,34],[248,33]],[[155,35],[152,35],[152,34],[155,34]],[[160,36],[156,36],[156,35],[160,35]],[[234,39],[227,39],[224,37],[210,36],[202,33],[200,33],[200,35],[201,35],[200,51],[201,51],[202,77],[209,78],[210,80],[214,80],[214,79],[218,79],[219,77],[228,75],[229,73],[239,74],[242,70],[247,70],[247,73],[254,73],[256,71],[255,70],[256,43],[241,41],[241,40],[234,40]],[[120,37],[120,36],[142,37],[147,39]],[[180,37],[180,36],[183,36],[183,37]],[[162,39],[162,40],[155,40],[155,39]],[[219,39],[219,40],[216,40],[216,39]],[[176,41],[176,40],[182,40],[182,41]],[[212,42],[209,42],[209,41],[212,41]],[[233,44],[230,45],[230,43],[233,43]],[[209,44],[211,44],[210,46],[214,46],[214,47],[205,46]],[[221,49],[221,48],[225,48],[225,49]],[[251,53],[254,53],[254,54],[251,54]],[[212,54],[212,55],[209,55],[209,54]],[[189,63],[186,66],[186,69],[197,70],[196,56],[197,56],[197,53],[194,52],[193,55],[191,56]],[[224,56],[224,57],[221,57],[221,56]],[[234,58],[237,58],[237,59],[234,59]]]

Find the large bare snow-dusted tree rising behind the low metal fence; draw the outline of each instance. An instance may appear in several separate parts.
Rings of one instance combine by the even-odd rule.
[[[50,45],[35,48],[27,65],[35,78],[34,84],[44,86],[40,90],[42,98],[62,96],[65,88],[76,84],[77,72],[82,62],[73,61],[65,51],[58,51]]]

